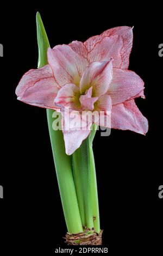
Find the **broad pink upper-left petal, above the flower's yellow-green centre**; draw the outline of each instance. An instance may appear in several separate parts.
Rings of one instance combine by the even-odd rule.
[[[64,86],[66,83],[79,85],[80,77],[88,65],[87,59],[74,52],[68,45],[48,48],[48,63],[60,86]]]

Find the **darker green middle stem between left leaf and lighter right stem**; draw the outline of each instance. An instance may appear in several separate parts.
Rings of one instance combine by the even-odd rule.
[[[93,228],[91,204],[91,170],[90,170],[90,142],[89,137],[83,141],[73,155],[74,180],[76,182],[77,198],[82,218],[86,228]]]

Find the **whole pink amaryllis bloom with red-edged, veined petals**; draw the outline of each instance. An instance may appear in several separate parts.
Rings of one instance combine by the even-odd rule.
[[[111,123],[98,125],[131,130],[143,135],[148,121],[137,108],[134,99],[144,97],[144,83],[128,70],[133,42],[133,29],[115,27],[84,43],[48,48],[48,65],[29,70],[16,88],[17,99],[30,105],[70,111],[111,112]],[[63,114],[64,121],[67,119]],[[66,153],[71,155],[89,136],[90,129],[69,130],[62,127]]]

